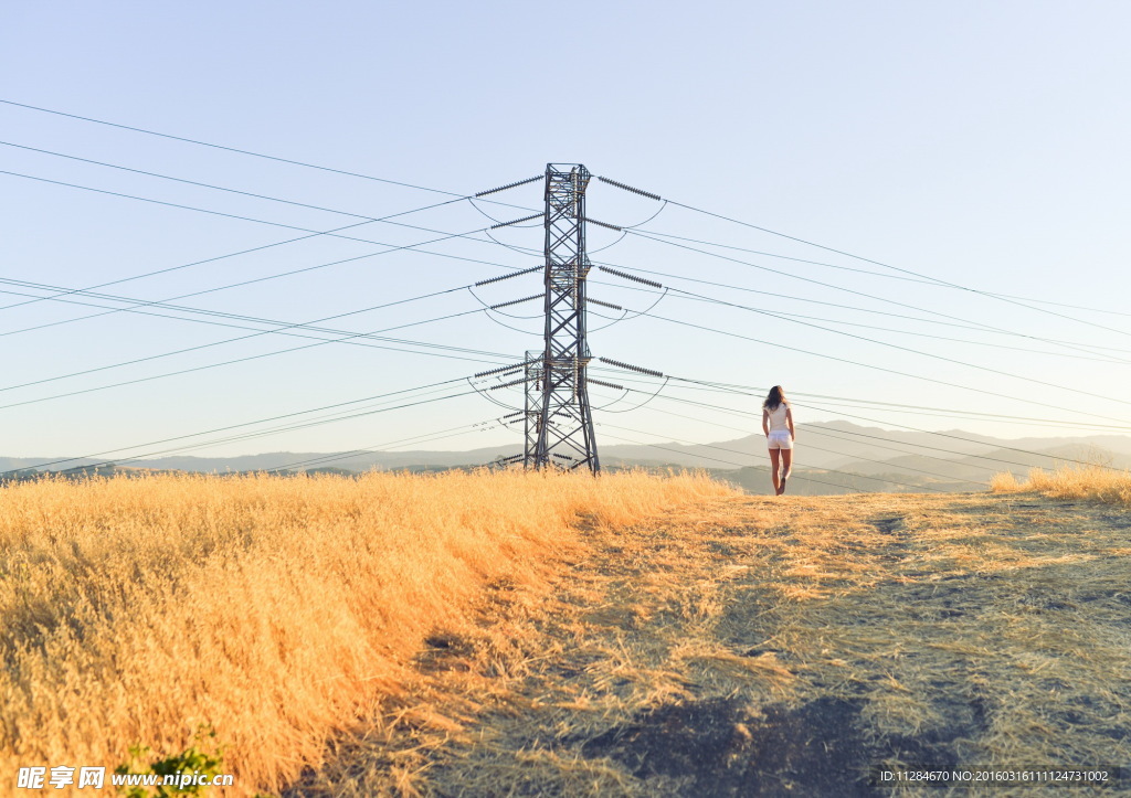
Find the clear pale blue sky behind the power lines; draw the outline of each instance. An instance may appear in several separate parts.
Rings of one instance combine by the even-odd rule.
[[[595,355],[760,391],[780,383],[798,402],[798,420],[853,414],[891,427],[1069,435],[1088,431],[968,414],[1131,428],[1128,29],[1123,2],[9,3],[0,98],[456,194],[537,175],[551,161],[584,163],[673,202],[886,264],[675,205],[661,210],[594,182],[593,218],[637,225],[661,210],[623,240],[592,228],[594,261],[664,272],[637,274],[763,311],[673,290],[655,316],[607,329],[598,328],[611,320],[592,318]],[[365,242],[321,235],[187,266],[452,197],[8,104],[0,104],[0,170],[41,179],[0,174],[0,289],[11,292],[0,304],[54,294],[44,286],[86,288],[185,266],[97,289],[110,297],[0,309],[0,454],[137,445],[119,453],[124,459],[265,427],[143,445],[162,439],[273,416],[288,416],[275,425],[320,418],[290,414],[463,378],[541,348],[541,321],[527,318],[537,315],[536,302],[508,309],[524,318],[492,319],[468,292],[454,290],[356,313],[537,266],[538,227],[500,232],[511,249],[476,235],[483,240],[357,259],[478,231],[492,224],[483,212],[532,211],[459,201],[396,219],[440,234],[370,223],[342,232]],[[494,199],[534,210],[542,201],[538,184]],[[710,244],[679,241],[693,248],[681,249],[657,241],[664,235]],[[355,260],[275,277],[346,259]],[[893,279],[909,275],[887,267],[961,288]],[[592,296],[632,311],[657,298],[594,277]],[[535,275],[481,297],[497,303],[538,290]],[[76,302],[127,306],[119,297],[287,324],[352,313],[319,323],[349,332],[412,324],[385,335],[475,353],[326,344],[271,355],[316,340],[221,342],[275,328],[153,305],[149,315],[41,327],[100,310]],[[1051,302],[1063,304],[1043,304]],[[464,315],[429,321],[455,313]],[[214,346],[165,356],[204,345]],[[252,355],[265,356],[213,367]],[[140,362],[118,365],[130,361]],[[162,376],[187,368],[197,371]],[[619,381],[613,372],[604,379]],[[452,384],[450,393],[469,390]],[[602,406],[620,392],[594,394]],[[944,413],[834,406],[814,394]],[[403,396],[399,404],[447,394]],[[511,389],[490,396],[521,401]],[[598,442],[707,442],[757,428],[757,419],[676,401],[750,410],[756,398],[683,383],[645,408],[610,415],[646,396],[598,414],[638,432],[606,426]],[[503,413],[473,394],[193,453],[334,451],[446,430],[467,434],[421,445],[469,449],[517,440],[490,425],[467,432]]]

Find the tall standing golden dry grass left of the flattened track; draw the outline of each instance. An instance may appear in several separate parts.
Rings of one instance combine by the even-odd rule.
[[[276,789],[398,693],[489,583],[728,494],[706,477],[150,476],[0,488],[0,772],[178,753],[200,723],[236,792]]]

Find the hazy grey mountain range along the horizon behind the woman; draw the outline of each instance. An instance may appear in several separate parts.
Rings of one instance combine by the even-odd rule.
[[[597,428],[601,441],[601,428]],[[345,470],[443,469],[482,466],[520,453],[517,445],[468,451],[408,452],[265,452],[231,458],[166,457],[130,460],[130,468],[154,470],[240,472],[284,469]],[[655,445],[601,445],[608,468],[705,468],[748,489],[763,492],[769,482],[766,439],[751,434],[709,444],[661,442]],[[0,458],[0,471],[29,469],[61,458]],[[41,470],[93,465],[95,460],[59,462]],[[1026,474],[1030,468],[1064,463],[1100,463],[1131,468],[1131,436],[996,439],[961,430],[941,433],[901,432],[865,427],[851,422],[805,424],[797,430],[795,480],[797,493],[843,493],[851,489],[978,489],[1000,471]],[[801,479],[808,474],[806,480]]]

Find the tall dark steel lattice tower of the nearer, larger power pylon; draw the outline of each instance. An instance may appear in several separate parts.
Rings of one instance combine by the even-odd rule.
[[[581,164],[546,164],[545,347],[541,405],[535,430],[536,468],[601,470],[586,387],[589,347],[585,339],[585,190],[589,171]],[[530,391],[527,383],[527,391]],[[530,409],[528,402],[527,409]],[[526,460],[530,465],[530,437]]]

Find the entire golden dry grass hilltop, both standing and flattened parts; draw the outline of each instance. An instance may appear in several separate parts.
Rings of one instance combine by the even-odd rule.
[[[1126,484],[1045,477],[11,486],[0,757],[113,765],[209,722],[233,795],[918,795],[877,774],[1125,766]]]

